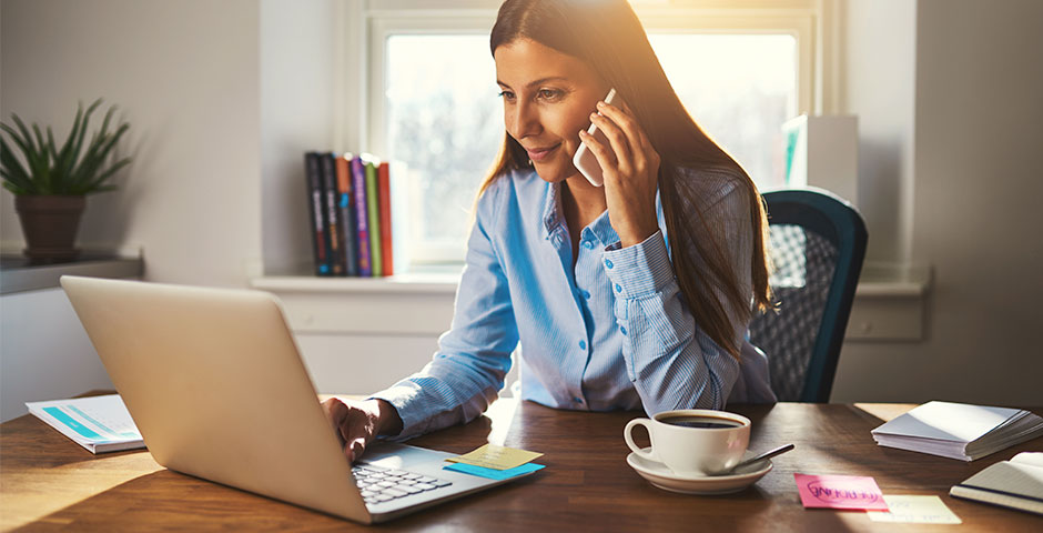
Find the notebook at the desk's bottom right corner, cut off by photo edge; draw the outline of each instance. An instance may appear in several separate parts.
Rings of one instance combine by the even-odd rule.
[[[1043,514],[1043,453],[1022,452],[953,485],[949,494]]]

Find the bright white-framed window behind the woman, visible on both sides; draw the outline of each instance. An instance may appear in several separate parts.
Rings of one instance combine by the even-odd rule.
[[[638,13],[681,101],[759,187],[779,185],[780,127],[812,101],[811,12],[739,17],[662,3],[639,4]],[[398,162],[395,239],[409,264],[458,263],[475,193],[504,131],[488,51],[495,10],[416,14],[365,12],[371,80],[363,131],[369,150]]]

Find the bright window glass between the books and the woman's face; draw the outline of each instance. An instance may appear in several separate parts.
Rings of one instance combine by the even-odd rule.
[[[408,254],[458,261],[475,194],[504,134],[488,37],[392,34],[386,47],[386,151],[399,162]]]

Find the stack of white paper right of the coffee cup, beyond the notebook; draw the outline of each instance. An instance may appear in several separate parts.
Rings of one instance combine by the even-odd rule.
[[[974,461],[1043,435],[1043,419],[1020,409],[928,402],[872,433],[881,446]]]

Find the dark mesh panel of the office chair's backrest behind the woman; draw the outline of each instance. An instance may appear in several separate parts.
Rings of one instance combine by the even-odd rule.
[[[750,342],[768,354],[771,389],[780,401],[798,401],[814,341],[822,323],[837,268],[838,250],[830,241],[799,225],[768,229],[774,271],[769,280],[778,312],[757,316]]]

